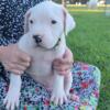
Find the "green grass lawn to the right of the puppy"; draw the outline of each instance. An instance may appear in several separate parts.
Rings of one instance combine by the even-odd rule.
[[[69,33],[67,44],[75,61],[96,65],[101,70],[98,110],[110,110],[110,18],[103,12],[70,11],[76,29]]]

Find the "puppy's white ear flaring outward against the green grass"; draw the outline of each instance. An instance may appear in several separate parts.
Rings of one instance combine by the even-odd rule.
[[[76,23],[74,18],[67,12],[67,10],[63,7],[63,14],[64,14],[64,32],[67,35],[73,29],[75,29]]]

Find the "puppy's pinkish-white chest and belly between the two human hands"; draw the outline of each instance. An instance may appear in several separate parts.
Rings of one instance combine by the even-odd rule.
[[[46,88],[52,87],[50,84],[53,82],[54,73],[52,70],[51,61],[35,58],[35,61],[32,62],[30,68],[28,69],[28,73],[35,81],[43,84]]]

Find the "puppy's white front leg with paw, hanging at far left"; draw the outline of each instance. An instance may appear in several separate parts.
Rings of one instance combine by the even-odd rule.
[[[14,110],[15,107],[19,107],[20,89],[21,76],[10,74],[9,90],[3,101],[8,110]]]

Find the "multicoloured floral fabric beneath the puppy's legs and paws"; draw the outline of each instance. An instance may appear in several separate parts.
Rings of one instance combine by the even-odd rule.
[[[79,100],[68,100],[63,106],[50,102],[51,91],[35,82],[28,74],[22,76],[22,89],[19,110],[96,110],[99,99],[100,70],[84,63],[73,65],[73,87],[70,94]],[[0,78],[0,103],[8,91],[8,84]]]

